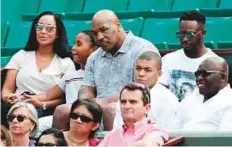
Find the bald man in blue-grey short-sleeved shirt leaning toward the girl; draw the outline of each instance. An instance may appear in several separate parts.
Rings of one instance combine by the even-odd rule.
[[[88,58],[79,98],[96,98],[104,112],[105,106],[118,100],[121,88],[133,81],[137,56],[146,50],[159,52],[151,42],[134,36],[131,31],[125,32],[110,10],[100,10],[94,15],[92,32],[100,48]],[[109,124],[106,130],[110,130],[114,116],[107,116],[109,123],[104,115],[104,124]]]

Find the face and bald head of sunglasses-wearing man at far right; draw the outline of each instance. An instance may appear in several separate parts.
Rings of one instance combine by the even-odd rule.
[[[199,92],[204,95],[204,102],[216,95],[221,89],[227,86],[228,65],[221,57],[212,57],[204,60],[198,70],[216,71],[207,76],[199,75],[196,83]]]

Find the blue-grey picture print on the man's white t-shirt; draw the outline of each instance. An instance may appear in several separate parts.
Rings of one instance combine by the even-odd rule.
[[[192,72],[182,70],[172,70],[169,81],[169,89],[181,101],[191,94],[196,87],[196,78]]]

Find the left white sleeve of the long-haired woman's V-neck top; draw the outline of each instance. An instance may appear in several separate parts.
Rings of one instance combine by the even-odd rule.
[[[24,61],[24,57],[26,55],[26,51],[20,50],[13,55],[10,62],[6,65],[5,69],[16,69],[19,70],[22,62]]]

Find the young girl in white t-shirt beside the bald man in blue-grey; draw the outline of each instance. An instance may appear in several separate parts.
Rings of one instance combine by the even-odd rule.
[[[81,83],[83,81],[84,72],[85,72],[85,64],[87,62],[88,57],[92,52],[94,52],[97,49],[97,43],[91,33],[91,31],[82,31],[80,32],[76,38],[75,38],[75,44],[72,48],[72,57],[73,61],[75,63],[80,64],[81,69],[75,71],[75,72],[69,72],[65,73],[63,78],[58,82],[57,85],[49,89],[46,93],[41,95],[25,95],[25,99],[30,99],[34,103],[37,103],[38,105],[43,105],[39,101],[39,99],[57,99],[57,98],[63,98],[65,95],[66,103],[58,106],[58,108],[61,108],[61,113],[59,115],[56,115],[56,112],[54,113],[54,117],[58,117],[59,120],[62,121],[55,121],[56,123],[55,128],[58,129],[65,129],[63,126],[67,126],[68,124],[68,113],[71,108],[71,104],[77,99],[77,93],[81,86]],[[46,107],[44,107],[46,109]],[[63,116],[67,119],[63,119]],[[47,129],[48,127],[51,127],[52,125],[52,116],[43,117],[39,119],[40,127],[39,131],[43,131],[44,129]],[[67,121],[67,122],[66,122]],[[61,127],[59,127],[61,125]],[[58,126],[58,127],[56,127]]]

